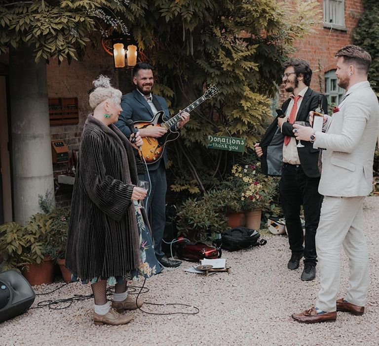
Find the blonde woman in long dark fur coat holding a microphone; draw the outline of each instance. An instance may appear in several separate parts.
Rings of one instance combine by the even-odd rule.
[[[143,304],[128,296],[127,280],[138,274],[150,277],[161,268],[146,213],[137,204],[147,194],[136,186],[143,165],[137,168],[135,153],[142,139],[136,133],[131,144],[114,126],[122,110],[121,91],[104,76],[93,84],[89,95],[93,114],[85,122],[80,141],[66,266],[74,279],[91,284],[94,323],[120,325],[132,319],[124,310]],[[115,285],[112,303],[107,302],[107,282]]]

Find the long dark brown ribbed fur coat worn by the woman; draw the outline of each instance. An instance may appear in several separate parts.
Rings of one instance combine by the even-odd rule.
[[[80,142],[66,247],[79,278],[123,276],[138,266],[139,236],[131,203],[138,176],[133,148],[114,125],[89,115]]]

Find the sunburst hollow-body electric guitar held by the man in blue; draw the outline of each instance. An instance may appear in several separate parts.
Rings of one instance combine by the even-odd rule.
[[[157,162],[163,155],[165,144],[171,142],[179,137],[178,131],[172,131],[171,127],[177,124],[180,121],[180,116],[183,112],[190,112],[195,109],[198,105],[203,103],[206,99],[213,97],[219,92],[219,89],[216,86],[209,87],[205,90],[204,95],[199,97],[196,101],[192,102],[186,109],[179,112],[168,121],[163,120],[164,111],[157,112],[152,121],[137,121],[134,123],[134,126],[137,129],[147,129],[151,126],[159,126],[167,130],[167,132],[159,137],[142,137],[143,144],[141,146],[140,155],[145,158],[146,163],[153,164]]]

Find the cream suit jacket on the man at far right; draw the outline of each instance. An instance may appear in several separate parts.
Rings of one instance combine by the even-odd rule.
[[[350,87],[328,119],[326,132],[316,132],[314,148],[323,148],[318,191],[324,196],[366,196],[373,188],[373,160],[379,132],[378,98],[369,82]]]

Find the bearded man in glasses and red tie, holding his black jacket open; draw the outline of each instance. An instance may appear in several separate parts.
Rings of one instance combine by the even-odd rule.
[[[322,203],[318,193],[319,150],[313,149],[309,142],[298,146],[292,124],[303,121],[309,126],[309,112],[317,108],[319,100],[326,112],[328,103],[324,95],[309,88],[312,70],[306,60],[290,59],[283,64],[283,69],[284,88],[290,93],[279,112],[279,116],[283,113],[284,117],[275,118],[261,142],[255,144],[255,151],[261,158],[263,173],[281,175],[279,194],[291,250],[287,267],[299,268],[300,259],[304,257],[301,279],[310,281],[316,274],[315,235]],[[305,234],[300,218],[302,205]]]

